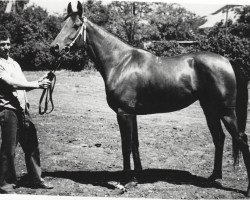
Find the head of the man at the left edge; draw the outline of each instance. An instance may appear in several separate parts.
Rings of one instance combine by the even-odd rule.
[[[0,57],[7,59],[10,52],[9,32],[0,25]]]

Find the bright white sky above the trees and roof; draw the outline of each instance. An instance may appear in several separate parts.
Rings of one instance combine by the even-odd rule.
[[[103,0],[103,2],[110,2],[111,0]],[[128,1],[128,0],[126,0]],[[131,0],[129,0],[131,1]],[[135,1],[161,1],[166,3],[179,3],[184,8],[189,11],[196,13],[199,16],[206,16],[214,11],[221,8],[226,4],[238,4],[238,5],[250,5],[249,0],[209,0],[209,1],[201,1],[201,0],[135,0]],[[30,5],[36,4],[45,8],[50,14],[62,14],[63,11],[67,8],[69,2],[72,2],[72,7],[76,7],[77,0],[30,0]],[[80,0],[82,2],[82,0]],[[202,2],[202,3],[201,3]]]

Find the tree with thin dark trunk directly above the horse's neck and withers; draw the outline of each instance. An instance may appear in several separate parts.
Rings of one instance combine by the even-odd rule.
[[[106,28],[131,45],[138,46],[148,38],[148,14],[151,3],[113,2],[108,6],[109,21]]]

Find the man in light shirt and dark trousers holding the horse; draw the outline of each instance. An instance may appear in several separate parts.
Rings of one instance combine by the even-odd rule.
[[[0,26],[0,193],[14,193],[16,171],[15,148],[19,142],[24,153],[29,186],[51,189],[41,177],[40,153],[36,128],[29,116],[26,90],[45,89],[51,81],[46,77],[28,82],[17,62],[9,56],[10,37]]]

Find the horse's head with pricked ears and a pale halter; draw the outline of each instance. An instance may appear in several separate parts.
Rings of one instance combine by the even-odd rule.
[[[79,1],[77,3],[76,12],[73,12],[71,3],[68,4],[65,24],[50,45],[52,55],[60,55],[62,52],[69,52],[70,48],[75,45],[76,41],[80,40],[82,35],[85,34],[85,18],[82,17],[82,14],[83,7]],[[86,37],[86,35],[84,37]]]

